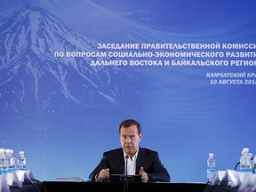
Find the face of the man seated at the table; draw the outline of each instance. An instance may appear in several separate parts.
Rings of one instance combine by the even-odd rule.
[[[136,125],[130,127],[121,127],[120,130],[120,141],[124,152],[133,156],[139,149],[139,142],[141,140],[141,134],[138,133]]]

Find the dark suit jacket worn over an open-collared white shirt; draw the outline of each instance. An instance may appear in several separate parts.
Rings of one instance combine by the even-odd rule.
[[[158,153],[148,148],[140,148],[136,160],[136,172],[139,174],[140,167],[149,174],[150,182],[170,182],[169,175],[164,165],[161,163]],[[103,153],[100,164],[90,173],[89,178],[95,181],[95,175],[101,169],[109,168],[110,174],[124,174],[124,152],[123,148],[116,148]]]

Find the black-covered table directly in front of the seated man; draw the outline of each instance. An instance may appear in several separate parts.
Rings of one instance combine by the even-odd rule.
[[[72,182],[72,181],[43,181],[42,192],[203,192],[204,183],[139,183],[139,182]]]

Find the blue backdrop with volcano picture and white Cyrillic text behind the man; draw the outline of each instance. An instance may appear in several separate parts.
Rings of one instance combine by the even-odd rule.
[[[256,153],[254,0],[1,0],[0,148],[38,180],[88,178],[142,126],[172,182]]]

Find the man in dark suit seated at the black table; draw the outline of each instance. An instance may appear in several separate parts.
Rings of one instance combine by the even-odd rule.
[[[122,148],[103,153],[100,164],[89,175],[92,181],[109,180],[110,174],[139,174],[142,182],[170,182],[170,174],[158,153],[140,148],[142,134],[136,120],[124,120],[119,125],[119,136]]]

